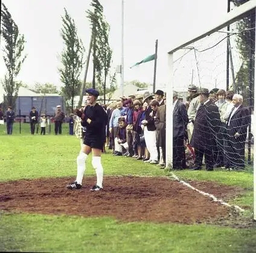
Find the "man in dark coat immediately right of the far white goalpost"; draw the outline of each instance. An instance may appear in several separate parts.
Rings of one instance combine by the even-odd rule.
[[[188,114],[178,93],[173,92],[173,169],[185,169],[184,136],[188,123]]]

